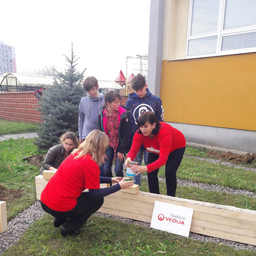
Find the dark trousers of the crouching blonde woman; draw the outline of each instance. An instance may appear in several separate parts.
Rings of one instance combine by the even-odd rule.
[[[41,202],[41,206],[44,211],[55,217],[58,223],[64,223],[63,226],[67,232],[76,232],[83,224],[89,219],[89,217],[98,211],[104,202],[104,198],[91,198],[89,193],[82,193],[77,198],[77,204],[70,211],[54,211],[47,205]]]

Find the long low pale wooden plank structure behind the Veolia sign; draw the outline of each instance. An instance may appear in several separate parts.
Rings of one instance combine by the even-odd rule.
[[[43,171],[35,177],[37,200],[54,173]],[[155,201],[194,209],[190,232],[256,245],[256,211],[140,192],[136,185],[106,196],[98,212],[150,223]]]

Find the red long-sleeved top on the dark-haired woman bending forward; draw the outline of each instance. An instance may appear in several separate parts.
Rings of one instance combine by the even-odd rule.
[[[173,128],[168,123],[160,123],[160,131],[152,139],[136,132],[133,137],[131,150],[127,154],[127,158],[134,160],[141,144],[143,144],[148,152],[159,155],[158,160],[146,165],[148,167],[148,173],[165,165],[171,152],[186,146],[185,137],[179,130]]]

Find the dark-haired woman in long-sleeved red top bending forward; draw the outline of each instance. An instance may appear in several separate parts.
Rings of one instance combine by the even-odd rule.
[[[160,194],[158,184],[159,168],[165,165],[165,181],[167,196],[175,196],[177,188],[176,173],[186,147],[186,140],[182,133],[167,123],[158,121],[153,112],[145,112],[138,119],[139,130],[133,137],[131,150],[127,154],[127,161],[135,159],[140,146],[149,152],[146,166],[134,165],[133,171],[148,173],[148,187],[150,193]]]

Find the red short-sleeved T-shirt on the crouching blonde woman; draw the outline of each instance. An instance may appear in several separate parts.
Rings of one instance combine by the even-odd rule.
[[[41,193],[41,202],[54,211],[70,211],[85,188],[100,188],[100,168],[91,155],[74,160],[75,156],[61,163]]]

